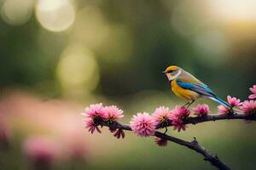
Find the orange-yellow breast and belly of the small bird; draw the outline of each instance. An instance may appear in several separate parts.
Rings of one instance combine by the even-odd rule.
[[[171,87],[172,87],[173,93],[176,94],[181,99],[191,101],[191,100],[198,99],[200,97],[200,94],[197,94],[191,90],[184,89],[178,86],[176,80],[172,80]]]

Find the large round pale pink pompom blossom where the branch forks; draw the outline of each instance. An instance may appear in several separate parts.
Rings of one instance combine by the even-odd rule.
[[[148,113],[137,113],[131,119],[131,130],[138,136],[148,137],[154,135],[156,123]]]

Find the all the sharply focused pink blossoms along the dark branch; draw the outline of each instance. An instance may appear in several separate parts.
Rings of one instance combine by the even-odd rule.
[[[256,114],[256,85],[250,88],[253,93],[246,100],[241,102],[241,99],[236,97],[227,96],[227,103],[230,107],[225,107],[224,105],[218,105],[219,114],[232,114],[236,109],[240,109],[244,114]],[[210,113],[210,108],[208,105],[196,105],[193,108],[193,113],[197,117],[204,118]],[[186,130],[186,124],[189,120],[191,112],[188,108],[177,105],[172,111],[169,108],[160,106],[156,108],[152,115],[147,112],[137,113],[134,115],[130,122],[130,127],[133,133],[141,137],[153,136],[157,128],[173,126],[174,130],[180,132],[181,130]],[[121,128],[111,127],[111,124],[118,122],[122,118],[123,111],[117,106],[103,106],[102,104],[90,105],[86,108],[84,115],[85,127],[90,133],[97,131],[101,133],[99,126],[108,125],[109,130],[113,133],[113,136],[117,139],[125,138],[125,133]],[[102,123],[103,122],[103,123]],[[159,146],[166,146],[167,140],[158,137],[154,138],[154,142]]]

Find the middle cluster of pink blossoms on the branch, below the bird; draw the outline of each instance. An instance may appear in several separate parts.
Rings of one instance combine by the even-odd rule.
[[[194,108],[196,116],[206,116],[210,110],[208,105],[197,105]],[[138,113],[137,116],[133,116],[130,125],[131,130],[138,136],[148,137],[154,135],[155,128],[166,127],[172,125],[178,132],[186,129],[186,120],[190,116],[189,109],[182,105],[177,105],[172,111],[168,108],[160,106],[155,109],[152,116],[148,113]],[[155,139],[155,143],[158,145],[166,145],[164,139]]]

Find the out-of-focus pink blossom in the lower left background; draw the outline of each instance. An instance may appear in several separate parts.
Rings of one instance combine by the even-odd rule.
[[[32,137],[24,142],[23,151],[34,166],[49,167],[55,160],[56,144],[44,137]]]

